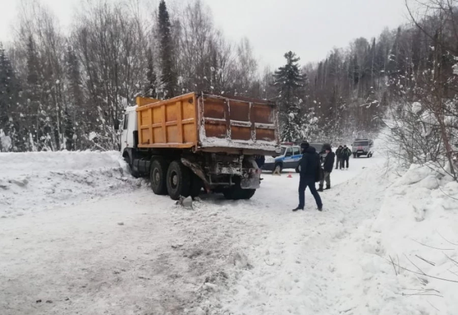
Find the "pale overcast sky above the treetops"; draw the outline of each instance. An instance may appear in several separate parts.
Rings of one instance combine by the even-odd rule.
[[[0,41],[11,40],[20,0],[0,0]],[[115,1],[115,0],[113,0]],[[145,0],[153,4],[157,0]],[[176,0],[175,0],[176,1]],[[261,66],[283,64],[293,50],[301,64],[326,57],[357,37],[378,36],[407,21],[404,0],[203,0],[226,37],[250,40]],[[65,30],[80,0],[41,0]]]

